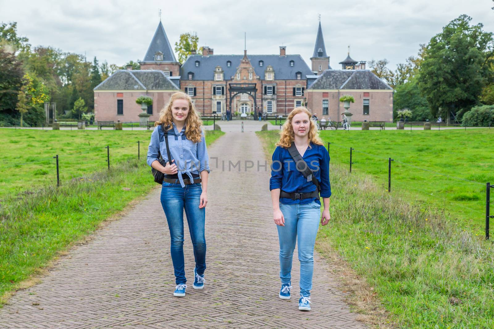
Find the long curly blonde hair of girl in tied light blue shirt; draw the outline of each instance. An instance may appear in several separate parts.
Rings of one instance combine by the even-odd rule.
[[[201,117],[196,111],[196,107],[192,103],[190,96],[184,92],[178,91],[171,95],[168,104],[160,111],[160,118],[158,121],[155,121],[155,127],[164,123],[165,127],[169,126],[168,130],[173,128],[171,107],[173,105],[173,101],[178,99],[183,99],[189,102],[189,113],[185,118],[185,137],[187,137],[190,141],[199,143],[199,141],[201,141],[203,120],[201,120]]]

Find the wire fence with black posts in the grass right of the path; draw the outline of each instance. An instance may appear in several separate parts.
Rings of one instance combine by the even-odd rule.
[[[344,163],[344,152],[347,151],[348,156],[348,168],[349,172],[352,172],[352,169],[355,170],[356,165],[357,168],[362,169],[360,165],[365,165],[365,166],[372,166],[371,169],[366,168],[366,173],[371,173],[374,176],[379,176],[379,175],[386,175],[387,174],[387,188],[386,191],[391,193],[392,191],[392,185],[398,184],[400,187],[399,192],[404,192],[404,193],[409,193],[410,190],[414,191],[417,195],[422,195],[427,198],[433,198],[436,200],[438,204],[442,204],[444,202],[466,209],[471,213],[482,215],[485,218],[485,236],[486,240],[489,239],[489,226],[490,226],[490,219],[493,219],[494,216],[490,214],[490,190],[491,188],[494,188],[494,185],[491,185],[490,182],[478,182],[466,178],[461,178],[461,177],[456,177],[450,174],[442,173],[437,170],[431,170],[427,168],[422,168],[407,162],[400,161],[396,158],[392,157],[385,157],[383,155],[378,155],[378,154],[372,154],[367,151],[361,150],[361,149],[355,149],[354,147],[350,146],[343,146],[343,145],[338,145],[334,143],[328,143],[328,151],[330,148],[337,148],[338,149],[338,155],[343,155],[342,162]],[[367,157],[370,157],[372,159],[372,163],[369,161],[366,161],[366,158],[360,158],[358,154],[363,154]],[[356,157],[357,156],[357,157]],[[369,159],[369,158],[367,158]],[[381,167],[375,168],[376,161],[382,161],[382,169]],[[395,163],[392,165],[392,163]],[[387,165],[387,166],[386,166]],[[353,168],[352,168],[353,167]],[[402,170],[402,168],[407,168],[408,170]],[[386,170],[387,169],[387,170]],[[412,173],[410,173],[412,171]],[[421,178],[420,183],[421,183],[421,189],[416,188],[412,185],[412,183],[405,182],[409,180],[409,177],[406,175],[411,175],[415,176],[418,175],[419,172],[425,173],[428,176],[425,178]],[[393,175],[393,176],[392,176]],[[393,180],[392,180],[393,177]],[[481,208],[474,209],[469,205],[465,205],[459,202],[451,201],[448,200],[446,195],[442,195],[444,193],[440,189],[445,187],[448,181],[454,181],[454,182],[462,182],[463,184],[468,184],[470,187],[468,187],[470,190],[475,191],[475,193],[479,193],[480,190],[484,190],[485,188],[485,212],[481,211]],[[384,182],[381,182],[384,183]],[[455,183],[455,187],[458,185]],[[464,187],[465,190],[467,190],[467,186],[461,185],[462,188]],[[478,188],[473,188],[473,186],[476,186]],[[482,186],[482,188],[480,187]],[[428,191],[431,191],[431,193],[428,193]],[[436,193],[436,194],[434,194]],[[438,195],[439,194],[439,195]],[[481,199],[477,198],[472,198],[472,200],[468,200],[471,202],[478,201],[478,206],[481,206],[480,201]],[[476,208],[476,207],[475,207]]]

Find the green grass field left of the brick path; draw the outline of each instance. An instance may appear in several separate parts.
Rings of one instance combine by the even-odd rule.
[[[223,134],[207,131],[206,144]],[[158,186],[146,164],[150,136],[148,131],[0,130],[0,306],[59,252]],[[54,154],[60,156],[60,187]]]

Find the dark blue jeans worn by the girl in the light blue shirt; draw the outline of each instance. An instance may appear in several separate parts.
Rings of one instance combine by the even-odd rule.
[[[180,183],[163,183],[161,189],[161,204],[165,211],[166,221],[170,229],[171,237],[171,261],[175,271],[175,283],[185,284],[184,270],[184,209],[189,224],[189,233],[194,247],[194,258],[196,260],[196,271],[204,274],[206,270],[206,238],[204,235],[204,224],[206,220],[206,208],[199,209],[201,183],[187,184],[185,187]]]

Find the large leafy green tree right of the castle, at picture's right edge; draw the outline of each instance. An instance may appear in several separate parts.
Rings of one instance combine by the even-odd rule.
[[[492,76],[493,34],[483,25],[470,25],[472,18],[461,15],[431,38],[420,65],[418,86],[432,111],[439,108],[460,116],[478,103]]]

